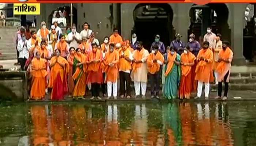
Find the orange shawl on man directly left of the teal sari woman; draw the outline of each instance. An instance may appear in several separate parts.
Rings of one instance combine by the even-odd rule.
[[[150,53],[147,58],[147,69],[148,72],[151,74],[155,74],[160,70],[160,65],[157,62],[154,62],[154,59],[157,59],[163,63],[164,58],[163,55],[157,51],[157,54]]]

